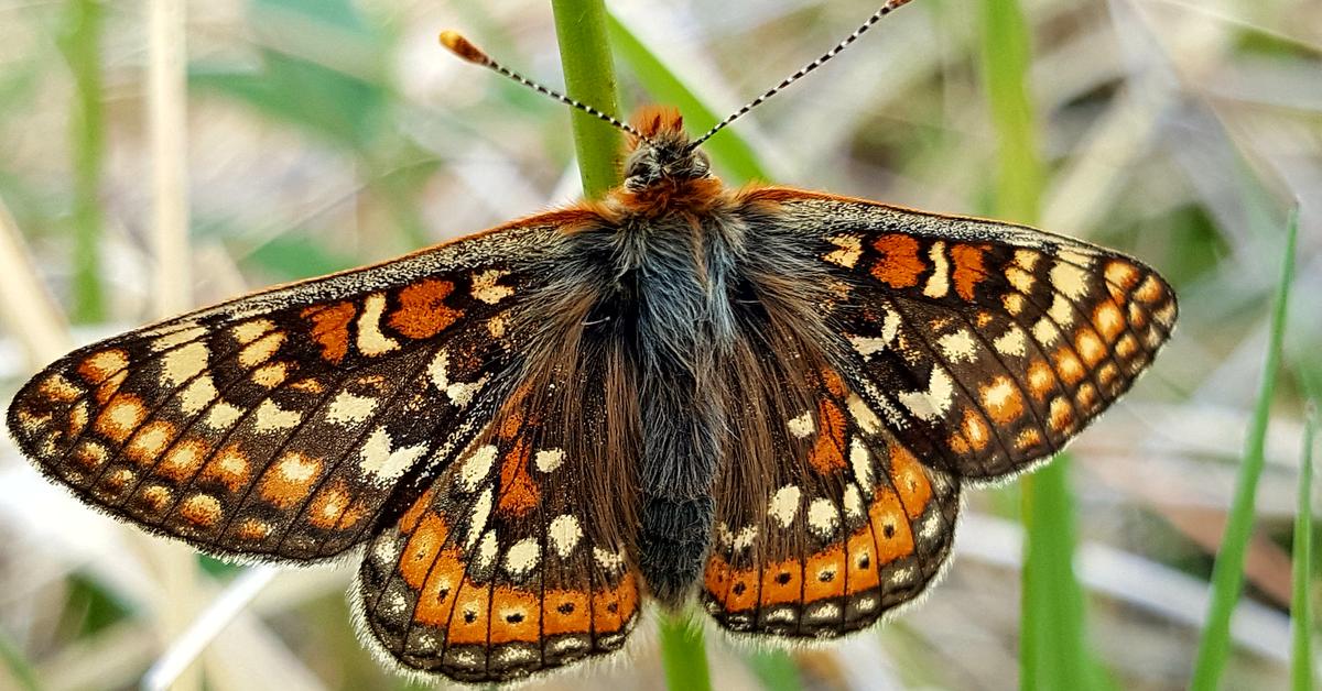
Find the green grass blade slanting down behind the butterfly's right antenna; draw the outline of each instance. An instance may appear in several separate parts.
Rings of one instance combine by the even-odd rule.
[[[683,81],[661,62],[661,58],[648,50],[648,46],[633,36],[628,26],[611,15],[607,16],[607,22],[616,52],[628,62],[657,102],[680,108],[689,132],[705,132],[720,120],[722,116],[709,108]],[[711,155],[711,160],[724,170],[731,182],[768,180],[752,147],[732,128],[726,128],[703,143],[702,151]]]

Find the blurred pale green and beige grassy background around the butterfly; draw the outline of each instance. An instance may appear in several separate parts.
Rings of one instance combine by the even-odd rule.
[[[0,1],[5,400],[66,345],[155,318],[163,291],[202,305],[578,197],[567,108],[435,40],[463,29],[559,86],[549,3],[186,3],[182,29],[164,34],[186,52],[186,119],[173,132],[186,144],[161,140],[167,159],[186,161],[186,196],[152,177],[149,5]],[[608,7],[625,108],[677,103],[691,129],[710,124],[703,111],[738,108],[875,11],[855,0]],[[732,182],[765,177],[936,211],[1035,215],[1171,280],[1182,308],[1171,345],[1071,447],[1069,472],[1058,477],[1066,503],[1035,521],[1047,554],[1068,563],[1075,550],[1083,604],[1068,569],[1062,576],[1043,552],[1029,579],[1064,587],[1044,588],[1056,599],[1021,597],[1021,484],[974,490],[954,563],[920,608],[842,645],[789,653],[709,633],[718,688],[1052,688],[1062,673],[1051,667],[1071,670],[1071,655],[1084,661],[1071,679],[1079,687],[1187,686],[1207,641],[1214,555],[1269,350],[1286,218],[1298,206],[1296,281],[1224,687],[1292,683],[1303,411],[1309,392],[1322,391],[1322,4],[1032,0],[1014,9],[915,0],[709,151]],[[186,203],[190,244],[188,262],[163,266],[153,209],[172,202]],[[186,551],[81,507],[8,440],[0,540],[0,688],[134,688],[241,572],[209,559],[193,569]],[[1313,544],[1311,554],[1322,552]],[[411,687],[354,639],[342,597],[350,571],[282,572],[182,687]],[[1315,572],[1303,593],[1314,601]],[[1021,636],[1043,621],[1047,629]],[[623,661],[534,686],[664,688],[658,636],[642,629]],[[1026,639],[1042,659],[1021,655]]]

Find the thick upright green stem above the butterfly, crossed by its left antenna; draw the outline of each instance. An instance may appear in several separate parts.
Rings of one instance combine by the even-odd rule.
[[[602,0],[551,0],[568,96],[608,115],[620,112]],[[574,147],[583,194],[596,198],[620,184],[620,131],[574,111]]]

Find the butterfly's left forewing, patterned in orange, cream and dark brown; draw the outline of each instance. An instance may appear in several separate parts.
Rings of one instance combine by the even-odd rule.
[[[514,296],[576,213],[241,297],[37,374],[8,424],[79,498],[217,554],[307,562],[494,412]]]

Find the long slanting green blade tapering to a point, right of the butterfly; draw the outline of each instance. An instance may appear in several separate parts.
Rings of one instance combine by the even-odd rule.
[[[1285,316],[1290,296],[1290,280],[1294,276],[1294,238],[1298,233],[1298,214],[1290,217],[1285,233],[1285,251],[1281,266],[1281,280],[1276,288],[1272,307],[1272,325],[1266,345],[1266,358],[1263,366],[1263,382],[1257,394],[1253,416],[1249,420],[1248,439],[1244,443],[1244,462],[1235,482],[1235,497],[1231,501],[1229,518],[1222,535],[1222,548],[1212,567],[1212,599],[1207,608],[1207,626],[1198,643],[1198,657],[1194,662],[1194,678],[1190,688],[1212,691],[1218,688],[1225,661],[1231,650],[1231,613],[1244,587],[1244,555],[1248,539],[1253,531],[1253,499],[1257,481],[1263,474],[1266,444],[1266,423],[1272,412],[1272,396],[1276,392],[1276,375],[1281,367],[1281,341],[1285,336]]]

